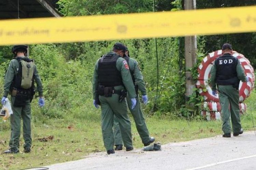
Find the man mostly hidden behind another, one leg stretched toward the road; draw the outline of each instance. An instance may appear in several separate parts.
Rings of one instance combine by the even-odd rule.
[[[134,84],[134,87],[136,90],[136,94],[137,94],[137,97],[136,97],[137,104],[134,109],[131,109],[130,98],[127,97],[128,107],[132,114],[134,122],[136,124],[137,131],[140,134],[142,143],[144,144],[144,146],[148,146],[148,145],[150,145],[150,143],[153,143],[155,141],[155,138],[150,137],[150,135],[149,135],[149,132],[148,132],[148,129],[146,126],[146,122],[145,122],[145,119],[144,119],[144,116],[142,113],[140,100],[138,100],[138,90],[140,90],[141,94],[142,94],[142,101],[144,104],[147,104],[147,100],[148,100],[147,99],[147,91],[146,91],[145,83],[143,80],[143,75],[138,66],[138,62],[135,59],[130,58],[129,51],[128,51],[127,47],[126,47],[126,52],[125,52],[124,58],[129,65],[132,81],[133,81],[133,84]],[[115,138],[115,146],[116,146],[115,150],[122,150],[123,149],[123,141],[122,141],[122,137],[120,134],[119,123],[118,123],[118,120],[116,119],[116,117],[114,117],[114,128],[113,129],[114,129],[114,138]]]

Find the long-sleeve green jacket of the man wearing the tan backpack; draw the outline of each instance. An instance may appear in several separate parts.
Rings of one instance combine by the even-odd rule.
[[[22,57],[22,58],[28,58],[28,57]],[[16,59],[11,60],[4,77],[5,80],[4,80],[3,96],[7,97],[8,93],[10,93],[10,87],[13,82],[14,75],[17,75],[18,69],[19,69],[18,60]],[[37,91],[39,93],[39,96],[43,97],[43,84],[38,74],[37,66],[34,67],[34,81],[35,83],[37,83]]]

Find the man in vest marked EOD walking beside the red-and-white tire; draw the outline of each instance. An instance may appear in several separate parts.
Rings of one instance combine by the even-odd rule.
[[[222,56],[218,57],[213,63],[210,80],[214,96],[217,95],[216,84],[218,87],[223,137],[231,137],[230,115],[233,136],[243,133],[239,109],[239,82],[240,80],[248,82],[248,77],[246,77],[239,60],[231,54],[232,46],[224,44],[222,46]]]

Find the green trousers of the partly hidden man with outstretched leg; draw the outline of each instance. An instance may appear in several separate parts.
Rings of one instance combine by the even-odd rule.
[[[150,141],[150,136],[149,136],[149,132],[146,126],[146,122],[142,113],[142,109],[141,109],[141,105],[140,105],[140,100],[138,100],[138,98],[136,98],[137,100],[137,104],[134,107],[134,109],[131,109],[131,99],[127,98],[127,103],[128,103],[128,107],[129,110],[132,114],[132,117],[134,119],[134,122],[136,124],[136,128],[138,133],[140,134],[142,143],[148,143]],[[119,123],[118,123],[118,119],[114,118],[114,138],[115,138],[115,145],[122,145],[122,137],[120,134],[120,130],[119,130]]]

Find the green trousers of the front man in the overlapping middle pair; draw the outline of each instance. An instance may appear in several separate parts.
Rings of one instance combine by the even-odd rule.
[[[120,131],[124,146],[132,147],[131,122],[128,117],[127,102],[118,101],[119,95],[112,94],[112,97],[99,96],[101,104],[101,130],[106,150],[114,148],[113,121],[114,115],[120,123]]]

